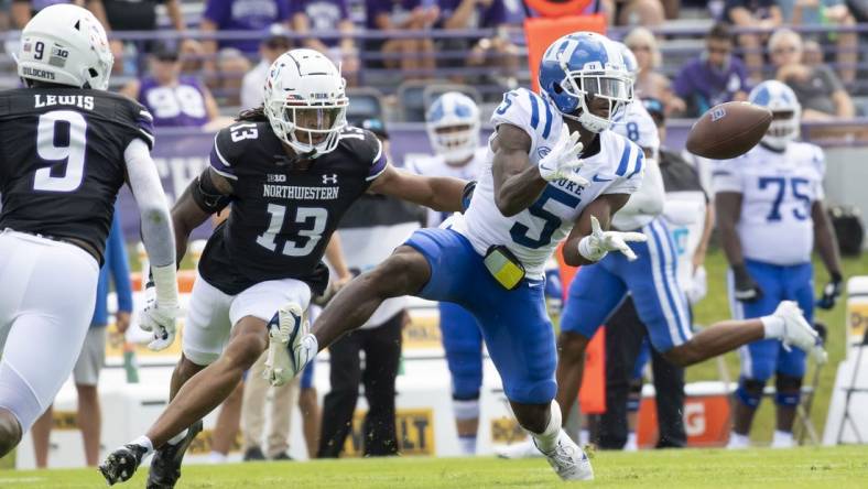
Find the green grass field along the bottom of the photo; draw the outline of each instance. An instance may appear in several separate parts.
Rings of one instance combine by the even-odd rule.
[[[655,450],[594,457],[594,487],[865,488],[868,448]],[[147,470],[119,488],[140,488]],[[95,469],[0,472],[0,487],[105,487]],[[482,488],[563,487],[540,458],[397,458],[257,463],[184,468],[182,488]]]

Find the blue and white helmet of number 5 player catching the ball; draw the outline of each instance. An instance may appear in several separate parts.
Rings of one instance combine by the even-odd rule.
[[[616,43],[594,32],[567,34],[545,50],[540,87],[567,119],[603,132],[633,98],[633,79]],[[594,98],[609,102],[607,117],[588,110]]]

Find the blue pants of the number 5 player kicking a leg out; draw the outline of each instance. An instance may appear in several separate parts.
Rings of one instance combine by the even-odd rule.
[[[476,317],[507,398],[522,404],[551,402],[557,391],[557,355],[544,282],[525,280],[507,291],[467,238],[452,229],[420,229],[405,244],[431,265],[431,280],[417,295],[458,304]]]

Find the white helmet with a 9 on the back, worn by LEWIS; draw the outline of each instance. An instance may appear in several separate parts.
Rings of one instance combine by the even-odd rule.
[[[102,24],[72,3],[40,10],[21,32],[18,74],[24,80],[105,90],[113,64]]]

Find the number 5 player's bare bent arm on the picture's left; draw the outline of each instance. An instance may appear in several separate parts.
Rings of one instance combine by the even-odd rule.
[[[531,206],[542,194],[546,182],[536,165],[531,164],[531,137],[517,126],[502,123],[491,141],[495,161],[495,204],[506,217]]]

